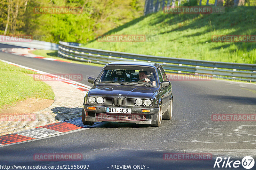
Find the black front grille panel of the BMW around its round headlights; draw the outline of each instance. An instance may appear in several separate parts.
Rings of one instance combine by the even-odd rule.
[[[102,104],[99,104],[97,102],[92,103],[92,104],[96,104],[96,105],[100,105],[100,106],[130,106],[130,107],[152,107],[153,103],[151,101],[151,104],[149,106],[144,106],[143,104],[141,106],[137,106],[135,104],[135,100],[137,98],[126,98],[126,97],[107,97],[107,96],[102,96],[104,98],[104,102]],[[145,99],[142,99],[142,101],[144,102]],[[87,103],[89,103],[89,101],[87,100]]]

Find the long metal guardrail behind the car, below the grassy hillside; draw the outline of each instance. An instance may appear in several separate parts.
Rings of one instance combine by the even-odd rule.
[[[244,81],[256,81],[256,64],[190,60],[153,55],[123,53],[72,46],[69,45],[69,43],[62,41],[60,41],[59,43],[60,45],[58,56],[69,58],[72,60],[104,65],[113,61],[155,62],[160,63],[166,70],[166,72],[169,73],[189,72],[193,74],[211,75],[212,77],[221,77]]]

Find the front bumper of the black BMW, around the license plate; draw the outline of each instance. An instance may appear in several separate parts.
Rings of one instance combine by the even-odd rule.
[[[89,110],[89,107],[95,107],[96,110]],[[109,106],[113,107],[113,106]],[[124,107],[115,107],[124,108]],[[90,122],[123,122],[136,124],[156,124],[159,108],[131,108],[131,114],[126,113],[107,113],[106,106],[83,106],[85,113],[85,121]],[[150,112],[142,112],[142,110],[150,110]]]

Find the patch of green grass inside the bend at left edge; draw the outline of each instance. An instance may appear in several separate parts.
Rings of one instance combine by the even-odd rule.
[[[51,86],[26,74],[36,72],[0,61],[0,108],[29,97],[54,100]]]

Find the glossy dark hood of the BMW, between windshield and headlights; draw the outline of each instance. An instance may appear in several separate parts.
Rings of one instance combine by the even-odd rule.
[[[112,85],[112,86],[93,86],[89,96],[119,96],[119,97],[139,97],[151,98],[156,93],[157,88],[146,86],[127,86],[127,85]]]

